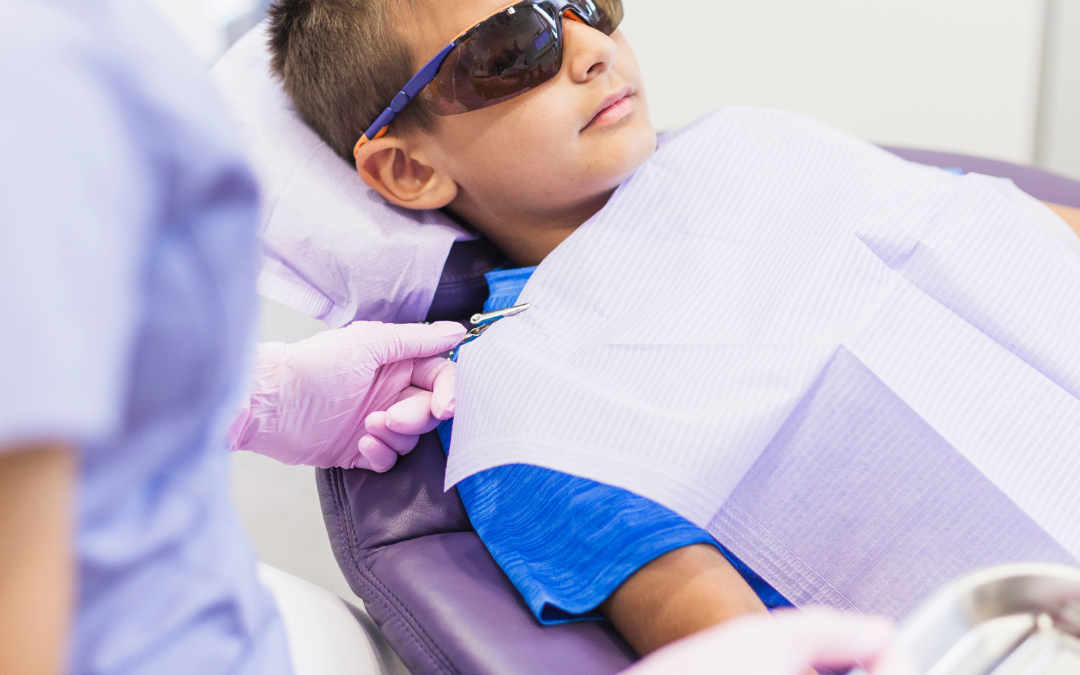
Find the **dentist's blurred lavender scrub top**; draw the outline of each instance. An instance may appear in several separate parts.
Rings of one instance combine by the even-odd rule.
[[[286,675],[229,498],[255,183],[205,67],[134,0],[0,24],[0,451],[78,456],[67,672]]]

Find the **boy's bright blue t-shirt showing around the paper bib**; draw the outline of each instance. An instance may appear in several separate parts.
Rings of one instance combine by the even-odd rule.
[[[489,273],[484,311],[516,303],[534,271]],[[438,429],[444,448],[451,430],[453,420]],[[717,546],[766,606],[791,606],[708,532],[624,489],[511,464],[462,481],[458,492],[484,544],[543,623],[599,618],[599,604],[644,565],[696,543]]]

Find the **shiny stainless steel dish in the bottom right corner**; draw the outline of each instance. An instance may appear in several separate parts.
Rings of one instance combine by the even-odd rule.
[[[1080,675],[1080,569],[1007,565],[966,577],[904,622],[900,646],[921,675]]]

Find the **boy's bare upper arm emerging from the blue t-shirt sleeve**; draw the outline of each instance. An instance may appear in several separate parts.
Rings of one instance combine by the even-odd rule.
[[[767,611],[708,544],[676,549],[642,567],[600,610],[640,656],[740,615]]]

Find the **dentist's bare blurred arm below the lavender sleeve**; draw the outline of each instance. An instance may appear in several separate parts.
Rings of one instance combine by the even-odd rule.
[[[0,448],[0,673],[58,675],[75,588],[75,460],[63,446]]]

